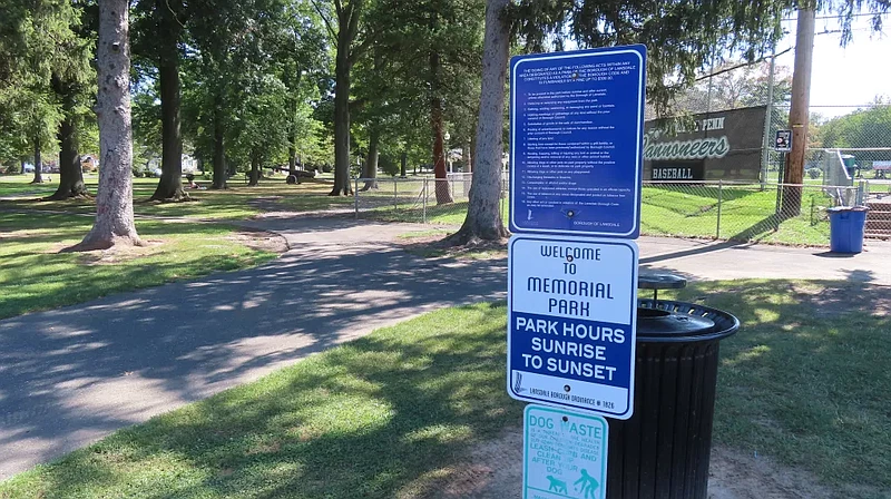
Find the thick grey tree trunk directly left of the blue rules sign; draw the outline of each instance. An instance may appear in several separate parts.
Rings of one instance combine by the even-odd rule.
[[[505,11],[510,0],[488,0],[482,56],[480,120],[470,203],[461,228],[448,242],[462,245],[508,235],[501,221],[501,156],[505,120],[505,82],[510,49],[510,23]]]

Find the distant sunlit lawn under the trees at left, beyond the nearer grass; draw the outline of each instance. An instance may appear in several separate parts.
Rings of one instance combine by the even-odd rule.
[[[51,175],[58,182],[57,175]],[[52,194],[56,184],[32,186],[27,184],[30,177],[0,177],[0,196],[28,195],[40,197]],[[85,176],[87,188],[96,194],[98,178],[96,175]],[[305,180],[301,185],[287,185],[284,177],[263,179],[255,187],[248,187],[242,176],[229,179],[226,190],[189,190],[196,200],[193,203],[148,203],[155,193],[157,178],[134,178],[134,212],[137,215],[168,216],[219,221],[242,221],[258,215],[280,204],[281,208],[294,211],[327,209],[341,205],[350,205],[352,198],[329,197],[331,184],[321,180]],[[209,182],[197,179],[199,184]],[[94,213],[96,203],[92,199],[71,199],[63,202],[38,202],[33,199],[16,199],[0,202],[1,206],[29,209],[63,211],[71,213]]]

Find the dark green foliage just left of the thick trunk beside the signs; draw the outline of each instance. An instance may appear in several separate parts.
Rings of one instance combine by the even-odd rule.
[[[453,144],[469,143],[479,107],[483,11],[481,0],[370,6],[365,19],[375,43],[355,68],[360,135],[376,129],[389,156],[405,151],[414,164],[431,163],[431,102],[440,99]]]

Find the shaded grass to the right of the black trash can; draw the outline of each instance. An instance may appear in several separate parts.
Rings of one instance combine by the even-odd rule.
[[[756,281],[698,283],[674,295],[743,324],[721,346],[717,442],[772,454],[835,486],[891,488],[891,288]]]

